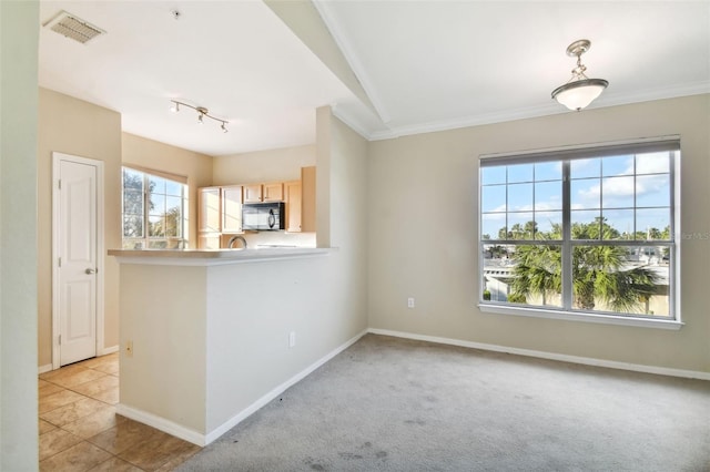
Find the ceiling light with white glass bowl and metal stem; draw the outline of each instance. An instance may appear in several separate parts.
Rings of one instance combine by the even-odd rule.
[[[567,47],[567,55],[577,57],[577,66],[572,69],[571,79],[552,91],[552,99],[569,110],[580,111],[589,105],[609,85],[604,79],[589,79],[585,75],[587,68],[581,63],[581,54],[589,51],[589,40],[579,40]]]

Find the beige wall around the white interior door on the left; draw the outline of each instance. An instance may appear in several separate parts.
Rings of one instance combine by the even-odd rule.
[[[38,137],[39,366],[52,363],[52,152],[103,161],[104,247],[121,247],[121,115],[40,89]],[[104,255],[104,346],[119,342],[119,266]],[[101,353],[101,352],[99,352]]]

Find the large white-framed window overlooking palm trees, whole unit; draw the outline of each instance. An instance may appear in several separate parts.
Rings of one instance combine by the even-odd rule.
[[[479,161],[485,311],[680,325],[680,142]]]

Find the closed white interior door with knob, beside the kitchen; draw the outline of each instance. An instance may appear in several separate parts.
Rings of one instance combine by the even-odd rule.
[[[100,171],[54,154],[54,368],[97,356]]]

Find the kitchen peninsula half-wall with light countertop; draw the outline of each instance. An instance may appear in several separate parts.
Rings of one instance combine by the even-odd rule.
[[[120,414],[204,445],[317,361],[313,327],[327,320],[314,300],[337,250],[109,255],[121,265]]]

